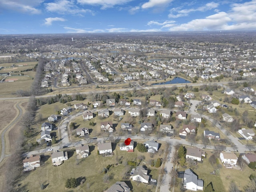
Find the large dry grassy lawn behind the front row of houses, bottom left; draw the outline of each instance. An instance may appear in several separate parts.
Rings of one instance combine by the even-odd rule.
[[[164,144],[161,148],[164,148]],[[124,172],[126,169],[131,170],[132,167],[124,166],[124,164],[116,164],[119,159],[122,160],[122,162],[127,160],[138,162],[138,156],[145,156],[146,161],[143,160],[141,164],[146,165],[148,169],[151,170],[150,175],[152,175],[152,178],[158,179],[160,168],[151,167],[149,162],[151,159],[157,159],[164,156],[164,154],[162,154],[162,156],[155,155],[153,158],[150,158],[148,153],[140,153],[136,148],[133,153],[127,153],[125,151],[120,151],[118,146],[116,146],[114,156],[112,157],[102,157],[101,155],[98,155],[97,146],[90,146],[90,152],[91,154],[89,157],[84,160],[79,160],[79,164],[77,164],[76,152],[71,150],[68,152],[69,159],[64,161],[64,164],[58,167],[52,166],[50,154],[45,154],[45,156],[42,157],[44,164],[32,172],[24,173],[22,178],[20,178],[19,183],[21,183],[22,186],[26,186],[26,189],[29,191],[40,190],[40,185],[42,183],[47,185],[44,190],[46,192],[66,191],[64,187],[66,179],[70,177],[81,177],[85,178],[86,181],[84,184],[78,186],[78,191],[101,192],[116,181],[127,180],[122,179]],[[114,164],[107,173],[113,174],[113,179],[110,180],[110,183],[104,183],[104,174],[102,173],[102,170],[103,168],[106,168],[108,164]],[[42,179],[38,179],[38,177]],[[152,188],[152,186],[146,184],[141,183],[137,186],[136,182],[129,182],[132,184],[134,191],[146,191]]]

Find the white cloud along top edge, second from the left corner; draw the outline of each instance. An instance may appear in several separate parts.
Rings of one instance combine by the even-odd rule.
[[[75,5],[74,0],[58,0],[52,3],[46,3],[46,10],[49,12],[57,12],[58,14],[83,14],[83,13],[90,13],[94,15],[94,12],[89,9],[82,9],[78,8]]]

